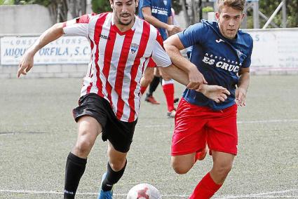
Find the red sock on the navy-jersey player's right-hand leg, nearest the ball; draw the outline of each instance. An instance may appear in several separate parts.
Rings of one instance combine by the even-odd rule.
[[[189,199],[208,199],[219,190],[222,184],[216,184],[210,176],[210,173],[205,175],[203,179],[198,183],[194,192]]]

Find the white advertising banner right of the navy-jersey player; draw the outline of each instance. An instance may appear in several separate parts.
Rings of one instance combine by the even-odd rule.
[[[298,69],[298,29],[250,29],[251,69]]]

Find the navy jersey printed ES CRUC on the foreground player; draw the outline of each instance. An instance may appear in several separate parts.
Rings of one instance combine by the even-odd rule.
[[[190,61],[196,65],[209,85],[221,85],[229,92],[228,99],[216,103],[201,92],[186,89],[184,99],[191,104],[225,109],[235,104],[238,71],[250,67],[252,37],[239,30],[236,39],[226,39],[219,31],[217,22],[202,20],[178,33],[184,48],[192,46]]]

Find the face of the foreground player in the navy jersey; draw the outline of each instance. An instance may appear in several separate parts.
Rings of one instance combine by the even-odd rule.
[[[227,39],[235,39],[244,14],[229,6],[222,6],[222,11],[216,13],[219,30]]]

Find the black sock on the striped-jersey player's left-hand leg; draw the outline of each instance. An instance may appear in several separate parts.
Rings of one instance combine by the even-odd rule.
[[[74,198],[79,181],[85,171],[87,159],[79,158],[72,153],[67,156],[65,167],[64,198]]]

